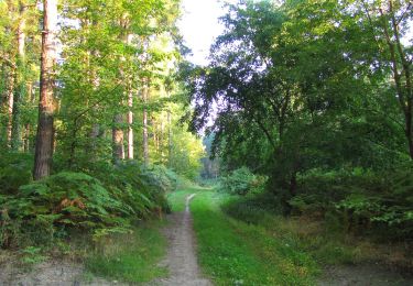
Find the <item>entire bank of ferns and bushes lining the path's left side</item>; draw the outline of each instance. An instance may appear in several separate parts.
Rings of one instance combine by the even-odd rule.
[[[176,187],[176,175],[163,166],[97,163],[31,182],[25,157],[8,160],[0,165],[2,246],[47,244],[75,231],[94,238],[128,231],[134,221],[170,211],[165,193]],[[10,177],[18,174],[8,172],[14,165],[21,180]]]

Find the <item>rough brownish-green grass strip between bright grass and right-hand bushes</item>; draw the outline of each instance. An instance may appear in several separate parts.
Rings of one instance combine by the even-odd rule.
[[[370,262],[403,270],[413,266],[405,244],[382,244],[354,235],[347,232],[335,215],[326,213],[323,219],[311,216],[285,218],[269,208],[270,201],[265,194],[247,198],[231,197],[221,207],[229,217],[263,228],[274,239],[309,254],[320,266]]]

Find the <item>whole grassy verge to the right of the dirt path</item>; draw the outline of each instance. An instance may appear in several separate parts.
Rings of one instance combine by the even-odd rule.
[[[183,189],[169,196],[172,208],[182,211],[191,194],[196,194],[191,211],[198,261],[216,285],[316,285],[328,267],[378,263],[388,273],[387,280],[367,277],[363,282],[404,285],[411,280],[412,261],[404,245],[352,235],[319,218],[285,218],[264,207],[271,206],[265,194],[241,197],[210,188]],[[401,274],[393,277],[394,267]],[[346,277],[351,278],[363,279]]]

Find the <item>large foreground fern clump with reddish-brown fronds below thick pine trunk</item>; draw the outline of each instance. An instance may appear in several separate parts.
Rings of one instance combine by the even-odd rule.
[[[33,243],[50,243],[70,229],[93,233],[102,228],[128,228],[121,201],[98,179],[83,173],[59,173],[23,185],[9,197],[3,212],[11,224],[20,223],[20,232]]]

